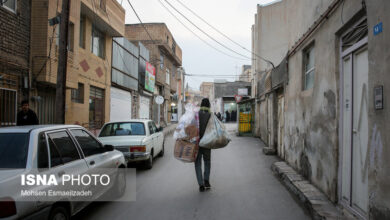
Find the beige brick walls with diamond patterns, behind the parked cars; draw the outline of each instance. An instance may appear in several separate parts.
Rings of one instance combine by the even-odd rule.
[[[73,50],[68,52],[66,81],[68,89],[66,91],[65,107],[65,121],[67,124],[78,123],[87,126],[89,123],[90,86],[104,89],[104,120],[109,120],[112,37],[124,33],[125,10],[114,0],[106,0],[106,11],[100,9],[98,0],[93,1],[95,1],[96,7],[93,7],[92,2],[87,0],[72,0],[71,2],[70,22],[73,24],[71,25],[73,28],[70,29],[70,38]],[[87,9],[81,12],[83,7]],[[31,50],[32,74],[38,82],[52,87],[55,87],[57,82],[58,45],[55,39],[51,43],[54,26],[48,26],[47,20],[60,11],[61,0],[58,3],[58,8],[55,0],[32,1],[31,45],[34,45]],[[80,13],[86,17],[85,48],[79,46]],[[95,23],[101,31],[105,31],[104,58],[100,58],[91,52],[92,23]],[[59,25],[57,25],[57,28],[59,28]],[[48,59],[46,67],[40,72],[46,61],[46,58],[42,57],[48,55],[50,55],[50,59]],[[84,70],[81,63],[87,63],[89,68]],[[78,88],[78,83],[84,84],[83,104],[71,101],[71,89]],[[36,88],[32,91],[32,94],[37,94],[38,90],[39,88]]]

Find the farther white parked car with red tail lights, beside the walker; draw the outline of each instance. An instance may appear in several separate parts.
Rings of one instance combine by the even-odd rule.
[[[103,144],[123,152],[127,162],[143,161],[151,169],[153,159],[164,155],[164,134],[152,120],[106,123],[98,136]]]

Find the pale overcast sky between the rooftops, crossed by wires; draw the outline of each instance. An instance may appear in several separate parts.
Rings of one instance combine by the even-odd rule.
[[[196,32],[201,38],[209,44],[217,47],[219,50],[234,56],[239,55],[223,48],[196,27],[192,26],[185,18],[181,17],[172,9],[166,1],[169,1],[176,9],[182,12],[188,19],[194,22],[198,27],[203,29],[209,35],[214,37],[220,43],[226,45],[237,53],[251,57],[250,52],[238,47],[228,39],[224,38],[218,32],[203,23],[190,11],[182,7],[178,0],[160,0],[175,15]],[[251,49],[251,26],[254,23],[254,14],[256,13],[257,4],[267,4],[273,0],[179,0],[184,5],[191,8],[203,19],[222,31],[228,37],[241,44],[247,49]],[[118,0],[126,9],[126,23],[139,23],[137,17],[131,10],[127,0]],[[173,34],[177,44],[183,51],[183,67],[187,74],[194,75],[236,75],[241,72],[241,66],[251,64],[249,59],[235,59],[226,56],[199,40],[195,35],[189,32],[180,24],[169,12],[164,9],[159,0],[130,0],[138,15],[144,23],[164,22]],[[234,80],[233,77],[226,78]],[[206,77],[186,77],[190,87],[199,89],[202,81],[213,81],[213,78]]]

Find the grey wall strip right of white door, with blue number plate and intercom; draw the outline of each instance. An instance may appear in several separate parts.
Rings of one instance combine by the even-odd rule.
[[[366,1],[368,14],[369,58],[369,196],[370,219],[390,219],[390,1]],[[373,28],[383,22],[377,36]],[[384,88],[384,110],[374,110],[374,87]]]

